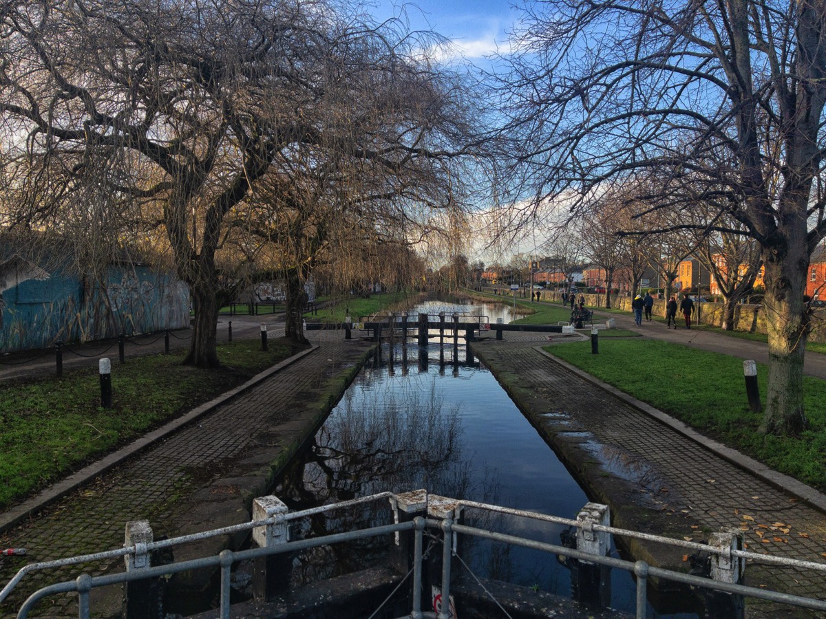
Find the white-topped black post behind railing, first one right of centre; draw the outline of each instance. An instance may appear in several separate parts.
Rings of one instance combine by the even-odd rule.
[[[586,503],[577,514],[577,550],[589,555],[604,557],[611,547],[610,533],[595,531],[595,525],[610,527],[611,517],[607,505]],[[573,561],[572,588],[578,602],[600,608],[607,607],[611,599],[610,568],[588,561]]]

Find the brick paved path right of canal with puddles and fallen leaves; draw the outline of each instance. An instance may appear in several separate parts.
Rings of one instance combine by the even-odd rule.
[[[544,435],[553,437],[550,440],[564,460],[585,470],[589,463],[600,462],[601,470],[591,474],[596,484],[605,479],[606,472],[630,482],[631,494],[610,500],[615,517],[625,517],[626,512],[629,520],[638,517],[638,508],[628,504],[633,502],[648,510],[650,522],[658,523],[654,527],[667,527],[671,529],[668,535],[678,539],[690,536],[700,541],[708,532],[743,527],[748,529],[748,550],[826,563],[821,555],[826,551],[824,513],[568,371],[534,347],[543,342],[536,334],[507,333],[506,338],[475,343],[474,352],[496,375],[519,377],[515,399]],[[772,529],[776,523],[784,527]],[[749,562],[746,574],[752,586],[826,598],[823,573]],[[760,614],[816,616],[800,609],[787,611],[787,607],[782,611],[762,607]],[[756,615],[750,612],[749,616]]]

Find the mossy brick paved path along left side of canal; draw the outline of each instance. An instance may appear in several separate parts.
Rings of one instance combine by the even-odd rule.
[[[207,530],[230,521],[249,521],[245,511],[240,515],[238,511],[244,507],[247,494],[265,492],[262,467],[266,469],[285,452],[295,450],[296,443],[315,426],[311,417],[319,416],[320,402],[330,393],[331,385],[340,383],[345,371],[367,350],[364,343],[355,340],[344,343],[341,332],[311,334],[311,339],[327,341],[316,352],[4,534],[0,540],[3,548],[25,547],[28,555],[0,559],[3,584],[26,563],[121,547],[125,524],[130,520],[150,520],[156,537],[178,535],[182,529],[192,532],[186,530],[191,527]],[[210,484],[211,494],[221,495],[220,522],[193,522],[191,516],[181,513],[182,505],[188,506],[192,495],[202,495],[202,489]],[[230,499],[235,502],[227,502],[223,494],[233,495]],[[209,516],[215,513],[204,519],[210,520]],[[122,561],[118,564],[116,569],[121,569]],[[91,570],[99,573],[111,567],[96,565]],[[28,595],[47,582],[77,574],[74,567],[61,574],[52,571],[26,577],[20,593],[0,605],[2,616],[13,616],[25,599],[23,592]],[[107,596],[97,597],[99,602]],[[75,600],[67,596],[50,614],[76,616]]]

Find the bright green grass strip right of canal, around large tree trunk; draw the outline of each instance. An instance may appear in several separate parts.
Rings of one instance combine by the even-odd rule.
[[[634,338],[601,342],[598,355],[591,354],[590,342],[546,350],[706,436],[826,491],[826,381],[805,377],[809,430],[799,438],[775,437],[757,432],[762,415],[748,409],[740,359]],[[765,396],[766,366],[758,364],[757,379]]]

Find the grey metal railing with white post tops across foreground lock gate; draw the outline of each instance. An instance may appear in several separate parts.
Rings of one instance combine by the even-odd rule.
[[[737,584],[736,582],[724,582],[724,577],[723,579],[719,579],[719,577],[710,579],[691,574],[683,574],[669,569],[653,567],[644,561],[617,559],[606,555],[604,550],[597,550],[596,553],[593,549],[590,551],[587,550],[587,542],[586,546],[584,546],[586,550],[582,550],[582,547],[580,546],[577,546],[577,549],[572,549],[567,546],[558,546],[547,542],[531,540],[521,536],[507,535],[487,529],[472,527],[464,525],[460,521],[463,517],[464,510],[478,509],[492,513],[525,517],[541,522],[550,522],[567,527],[574,527],[577,529],[577,540],[579,540],[580,537],[585,540],[593,540],[595,539],[595,536],[604,534],[634,538],[644,541],[653,541],[670,546],[678,546],[688,550],[700,550],[712,555],[715,560],[719,561],[719,565],[728,565],[730,569],[733,569],[735,575],[738,571],[737,565],[744,565],[746,560],[752,560],[768,565],[782,565],[798,569],[815,570],[826,575],[826,564],[824,563],[795,560],[788,557],[766,555],[747,550],[738,550],[736,547],[731,545],[705,545],[694,541],[675,540],[664,536],[610,527],[607,524],[601,523],[608,522],[607,508],[605,506],[597,505],[596,503],[588,503],[577,516],[577,519],[570,519],[548,516],[541,513],[528,512],[519,509],[504,508],[487,503],[446,499],[444,497],[428,494],[425,490],[416,490],[414,492],[404,494],[394,494],[390,492],[373,494],[360,499],[353,499],[342,503],[324,505],[318,508],[310,508],[292,513],[278,511],[278,513],[268,515],[268,517],[259,517],[258,519],[254,519],[252,522],[244,522],[232,527],[222,527],[220,529],[207,532],[179,536],[163,541],[151,541],[150,543],[145,544],[135,543],[134,545],[126,546],[121,549],[110,550],[93,555],[80,555],[69,559],[26,565],[11,581],[9,581],[2,591],[0,591],[0,602],[7,598],[12,590],[17,587],[17,584],[21,582],[21,579],[23,579],[27,574],[31,574],[37,570],[64,567],[67,565],[78,565],[89,561],[118,557],[125,557],[127,561],[132,562],[132,565],[139,565],[140,561],[137,559],[139,557],[148,557],[149,553],[153,550],[161,550],[171,546],[179,546],[191,543],[193,541],[201,541],[216,536],[225,536],[231,533],[253,532],[254,530],[261,532],[268,530],[268,527],[285,527],[287,522],[300,518],[309,517],[319,513],[328,513],[337,509],[349,508],[360,503],[371,503],[381,499],[389,499],[392,505],[394,521],[392,524],[368,527],[357,531],[336,533],[333,535],[320,536],[300,541],[286,541],[285,536],[285,539],[276,544],[267,544],[262,547],[251,548],[249,550],[223,550],[220,555],[207,556],[195,560],[181,561],[178,563],[159,565],[156,567],[147,566],[141,569],[127,569],[126,572],[120,574],[107,574],[102,576],[80,574],[75,579],[57,584],[51,584],[47,587],[40,588],[35,593],[32,593],[31,596],[26,599],[26,602],[24,602],[21,606],[17,617],[28,617],[29,612],[31,612],[32,608],[36,605],[36,602],[39,602],[41,599],[50,595],[54,595],[55,593],[76,592],[78,593],[78,617],[83,619],[83,617],[90,616],[91,609],[89,607],[89,594],[93,588],[107,586],[110,584],[129,583],[139,579],[148,579],[168,574],[177,574],[190,569],[202,569],[209,567],[220,568],[221,570],[219,611],[221,617],[230,617],[230,571],[235,562],[253,560],[265,556],[278,555],[285,552],[306,550],[316,546],[338,544],[346,541],[366,539],[375,536],[385,536],[390,533],[394,533],[396,535],[396,543],[398,543],[398,536],[402,532],[413,532],[414,550],[412,556],[412,567],[398,586],[401,586],[401,584],[403,584],[408,577],[412,576],[413,588],[411,590],[420,591],[422,583],[423,538],[426,530],[441,531],[444,533],[443,552],[441,557],[441,595],[444,600],[449,599],[450,595],[451,563],[453,556],[456,555],[456,538],[459,535],[465,535],[503,542],[534,550],[542,550],[544,552],[553,553],[554,555],[561,555],[567,558],[580,560],[586,564],[604,565],[610,568],[624,569],[632,572],[637,577],[636,617],[640,619],[646,617],[646,596],[648,579],[650,578],[663,579],[678,584],[690,585],[691,587],[696,588],[731,593],[734,595],[743,596],[743,598],[757,598],[770,602],[790,604],[796,607],[826,611],[826,601],[815,598],[808,598],[790,593],[780,593],[767,590],[765,588],[749,587],[743,584]],[[271,508],[269,506],[272,506],[273,502],[283,506],[283,503],[280,503],[280,501],[274,497],[256,499],[257,504],[259,504],[259,501],[262,502],[260,505],[263,505],[263,508],[258,507],[259,513],[261,509],[268,511]],[[401,517],[402,513],[406,514],[408,519]],[[595,513],[600,514],[596,517],[596,519],[593,517]],[[736,539],[738,533],[733,532],[731,535]],[[742,540],[742,537],[740,539]],[[599,544],[597,544],[596,547],[604,548],[605,546],[599,546]],[[740,574],[742,575],[742,572]],[[385,602],[387,602],[387,600],[382,602],[382,605]],[[449,611],[447,606],[448,605],[445,604],[444,610],[439,613],[422,612],[420,596],[414,595],[411,598],[411,614],[406,617],[412,617],[414,619],[417,619],[418,617],[439,617],[439,619],[448,619]],[[380,608],[381,606],[379,606],[378,609]]]

